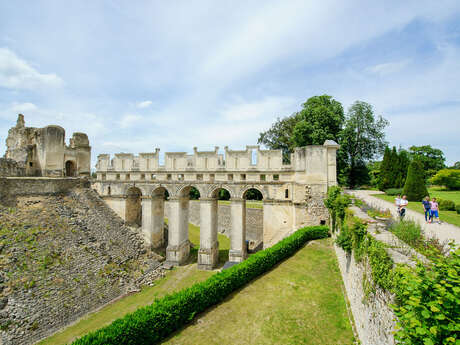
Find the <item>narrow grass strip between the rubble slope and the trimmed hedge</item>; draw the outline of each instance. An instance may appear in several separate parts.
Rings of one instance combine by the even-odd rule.
[[[200,271],[193,264],[197,260],[200,243],[200,228],[198,226],[189,224],[189,240],[195,245],[195,248],[191,250],[190,263],[188,265],[166,271],[166,276],[157,280],[154,286],[144,287],[138,293],[124,297],[97,312],[86,315],[75,324],[67,327],[62,332],[46,338],[39,344],[58,345],[70,343],[77,337],[108,325],[115,319],[133,312],[139,307],[151,304],[155,298],[192,286],[216,273],[217,271]],[[219,262],[223,264],[228,260],[230,239],[222,234],[218,234],[218,241]]]

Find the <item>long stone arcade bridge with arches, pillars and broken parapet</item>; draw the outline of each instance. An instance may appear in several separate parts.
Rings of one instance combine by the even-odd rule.
[[[174,265],[185,262],[188,240],[189,192],[200,192],[200,249],[198,267],[212,269],[217,264],[217,195],[230,194],[231,231],[229,261],[246,258],[245,194],[257,189],[263,196],[263,243],[268,247],[307,225],[326,222],[323,204],[327,188],[337,184],[338,145],[296,148],[291,163],[283,164],[281,150],[260,150],[247,146],[225,155],[214,151],[192,155],[167,152],[160,165],[159,149],[138,156],[126,153],[101,154],[97,161],[99,195],[128,223],[142,227],[152,247],[164,243],[165,194],[169,195],[169,231],[166,260]]]

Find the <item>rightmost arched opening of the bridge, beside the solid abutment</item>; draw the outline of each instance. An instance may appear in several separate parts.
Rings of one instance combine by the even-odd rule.
[[[246,209],[246,244],[248,253],[255,253],[263,248],[263,194],[257,188],[249,188],[243,193]]]

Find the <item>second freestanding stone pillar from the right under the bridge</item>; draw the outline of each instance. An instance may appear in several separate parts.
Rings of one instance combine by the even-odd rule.
[[[217,199],[200,199],[200,249],[198,269],[211,270],[219,260]]]

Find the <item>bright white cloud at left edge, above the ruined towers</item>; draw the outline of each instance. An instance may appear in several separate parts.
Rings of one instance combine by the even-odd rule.
[[[42,74],[11,50],[0,48],[0,87],[33,90],[62,85],[62,79],[56,74]]]

